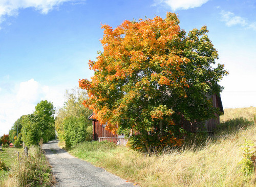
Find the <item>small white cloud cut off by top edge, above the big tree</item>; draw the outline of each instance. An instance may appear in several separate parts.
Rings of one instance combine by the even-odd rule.
[[[156,0],[156,4],[168,5],[173,10],[187,10],[190,8],[201,7],[209,0]]]

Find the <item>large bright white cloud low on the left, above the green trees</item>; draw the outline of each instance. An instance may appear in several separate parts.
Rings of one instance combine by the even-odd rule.
[[[2,87],[0,92],[0,136],[8,134],[20,116],[32,113],[41,100],[53,102],[56,108],[62,107],[65,101],[66,85],[50,87],[34,79],[16,85],[7,80],[5,84],[9,87]]]

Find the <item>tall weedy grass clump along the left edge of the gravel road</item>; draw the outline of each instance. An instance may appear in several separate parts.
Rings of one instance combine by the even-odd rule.
[[[1,186],[52,186],[54,180],[45,155],[39,147],[31,146],[27,157],[12,160],[9,177]]]

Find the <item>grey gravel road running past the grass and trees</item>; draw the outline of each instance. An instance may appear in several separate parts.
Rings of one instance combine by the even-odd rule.
[[[126,182],[102,168],[71,156],[57,144],[57,141],[51,141],[42,145],[57,180],[55,186],[134,186],[133,183]]]

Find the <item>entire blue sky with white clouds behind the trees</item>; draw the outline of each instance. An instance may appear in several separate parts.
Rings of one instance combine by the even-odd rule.
[[[0,135],[41,100],[62,107],[66,90],[93,76],[88,61],[102,51],[101,24],[166,12],[187,33],[207,26],[229,72],[220,81],[223,107],[256,107],[255,0],[1,0]]]

